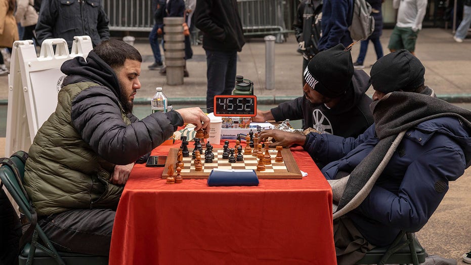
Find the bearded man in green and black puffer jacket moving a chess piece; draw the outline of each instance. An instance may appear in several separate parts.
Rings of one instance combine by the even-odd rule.
[[[131,45],[100,43],[85,61],[64,62],[56,111],[37,132],[25,188],[38,223],[62,251],[108,255],[115,210],[134,162],[184,123],[209,119],[200,108],[156,112],[139,121],[133,100],[142,57]]]

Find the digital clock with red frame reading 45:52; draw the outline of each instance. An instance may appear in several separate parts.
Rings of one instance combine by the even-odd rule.
[[[256,96],[218,95],[214,97],[214,116],[255,117],[256,115]]]

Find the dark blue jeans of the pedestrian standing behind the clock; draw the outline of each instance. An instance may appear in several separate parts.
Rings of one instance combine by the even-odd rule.
[[[214,96],[230,95],[235,86],[237,71],[237,51],[216,52],[206,50],[208,90],[206,107],[210,112],[214,107]]]

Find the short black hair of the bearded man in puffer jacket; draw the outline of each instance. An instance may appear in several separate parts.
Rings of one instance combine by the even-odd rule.
[[[113,69],[124,65],[126,59],[142,62],[136,48],[119,40],[103,41],[93,51]]]

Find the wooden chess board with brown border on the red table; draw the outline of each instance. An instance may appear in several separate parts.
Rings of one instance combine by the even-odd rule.
[[[163,170],[162,178],[168,176],[168,167],[173,165],[174,176],[177,175],[176,166],[177,163],[177,153],[178,148],[170,148],[168,152],[167,161],[165,163],[165,168]],[[229,163],[228,159],[223,159],[223,148],[214,148],[212,153],[215,155],[215,159],[212,163],[204,163],[204,149],[203,154],[201,155],[201,164],[203,166],[203,171],[195,171],[194,161],[190,157],[183,157],[184,168],[182,169],[181,175],[183,178],[208,178],[209,173],[212,169],[253,169],[257,176],[262,178],[271,178],[271,179],[281,179],[281,178],[302,178],[303,175],[299,168],[297,167],[296,161],[291,154],[291,150],[288,148],[283,148],[281,150],[281,155],[283,157],[283,162],[276,163],[275,157],[278,153],[274,148],[269,149],[269,154],[272,158],[271,165],[265,165],[265,171],[256,171],[258,159],[252,155],[243,155],[244,161],[238,161],[236,163]],[[243,154],[243,149],[242,149]],[[265,152],[264,152],[265,154]],[[234,154],[237,157],[237,152]]]

